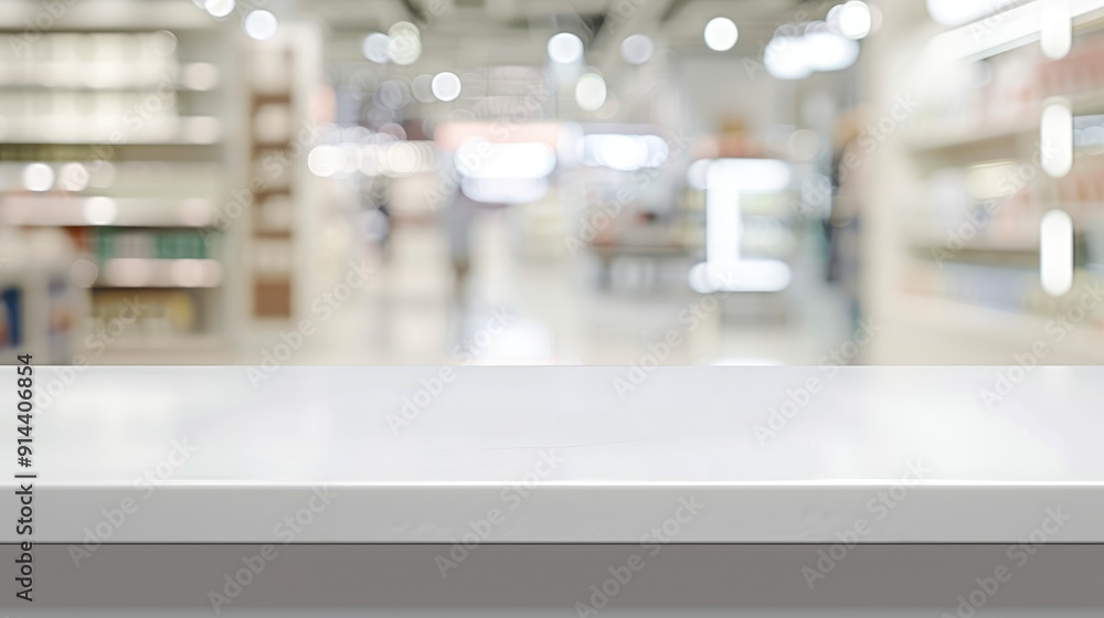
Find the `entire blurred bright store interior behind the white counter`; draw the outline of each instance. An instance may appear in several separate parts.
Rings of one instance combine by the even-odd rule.
[[[2,363],[1104,361],[1104,0],[0,30]]]

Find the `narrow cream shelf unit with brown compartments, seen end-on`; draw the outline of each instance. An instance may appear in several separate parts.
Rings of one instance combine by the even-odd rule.
[[[240,185],[248,188],[251,203],[244,225],[230,234],[248,248],[241,255],[243,319],[264,331],[305,317],[317,285],[314,236],[322,198],[306,161],[320,120],[314,97],[322,77],[321,35],[310,23],[284,23],[270,40],[244,40],[237,54],[245,67],[247,161]]]

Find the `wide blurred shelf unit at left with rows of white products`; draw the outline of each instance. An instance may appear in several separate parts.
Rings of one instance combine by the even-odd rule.
[[[227,192],[227,45],[225,24],[197,13],[112,24],[77,11],[18,53],[7,40],[22,30],[0,33],[0,227],[64,231],[79,332],[144,307],[120,348],[227,327],[227,247],[204,233]]]

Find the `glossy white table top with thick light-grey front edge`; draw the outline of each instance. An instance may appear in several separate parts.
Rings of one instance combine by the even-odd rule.
[[[251,371],[36,367],[34,540],[1104,542],[1104,369]]]

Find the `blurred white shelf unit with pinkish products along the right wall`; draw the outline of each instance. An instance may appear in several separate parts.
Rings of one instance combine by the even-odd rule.
[[[1075,118],[1104,111],[1104,73],[1093,68],[1104,61],[1097,25],[1078,24],[1073,51],[1057,61],[1043,57],[1038,43],[957,65],[916,60],[915,51],[887,56],[895,60],[885,67],[914,63],[901,71],[898,92],[924,105],[895,145],[879,152],[879,173],[893,181],[881,185],[887,203],[877,205],[894,212],[875,217],[872,233],[893,238],[881,246],[896,244],[900,257],[875,268],[880,276],[868,286],[892,333],[879,342],[874,362],[1000,364],[1037,343],[1055,352],[1048,363],[1104,360],[1104,302],[1084,315],[1072,309],[1104,273],[1096,153],[1104,143],[1075,149],[1073,171],[1062,179],[1049,178],[1038,162],[1049,100],[1064,99]],[[915,35],[915,26],[901,28]],[[1075,230],[1074,284],[1059,298],[1039,280],[1039,224],[1052,209],[1066,211]],[[1047,327],[1071,310],[1076,329],[1057,345]]]

